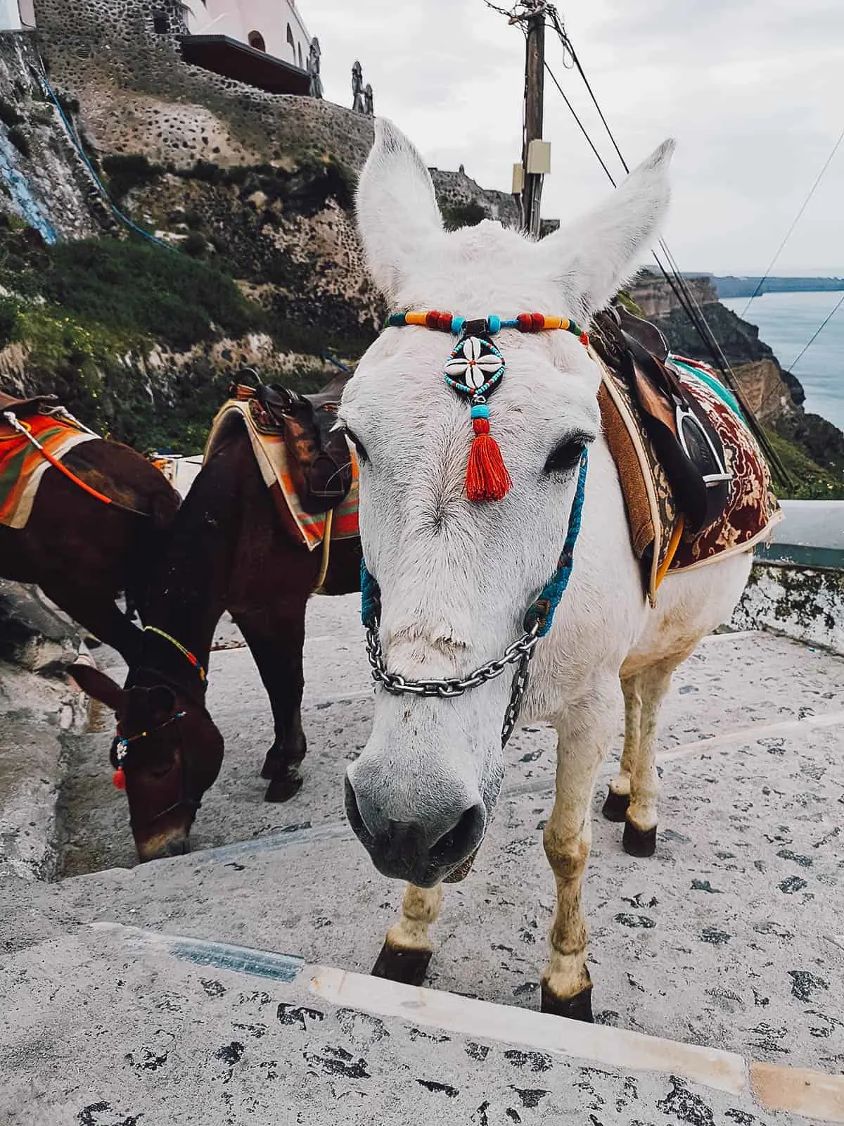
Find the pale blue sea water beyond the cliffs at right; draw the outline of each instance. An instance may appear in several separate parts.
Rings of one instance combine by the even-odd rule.
[[[730,297],[721,304],[758,325],[760,339],[803,385],[806,410],[844,430],[844,304],[799,363],[791,366],[841,296],[834,292],[765,293],[753,298],[746,313],[746,297]]]

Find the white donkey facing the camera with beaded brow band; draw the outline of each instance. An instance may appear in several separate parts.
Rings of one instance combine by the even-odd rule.
[[[672,142],[663,144],[607,203],[537,243],[488,221],[443,231],[424,162],[393,125],[378,122],[358,194],[372,277],[396,311],[506,321],[538,310],[587,324],[655,238],[668,203],[672,151]],[[520,670],[508,667],[517,671],[515,689],[508,671],[445,697],[401,691],[395,674],[411,689],[421,680],[466,677],[524,635],[526,610],[555,575],[566,529],[569,538],[576,531],[572,510],[589,447],[571,583],[550,632],[536,643],[521,713],[526,721],[549,721],[558,739],[556,797],[545,828],[557,910],[542,1009],[589,1020],[581,881],[619,680],[626,736],[610,804],[628,805],[626,846],[647,855],[657,821],[661,701],[675,667],[729,617],[751,554],[667,578],[657,607],[648,606],[601,432],[600,370],[571,331],[528,336],[501,327],[495,343],[506,377],[488,409],[473,409],[472,417],[488,413],[481,429],[494,431],[511,488],[503,499],[473,503],[466,492],[469,409],[442,375],[452,342],[412,321],[388,328],[371,346],[340,411],[361,463],[361,539],[380,588],[383,655],[375,631],[370,654],[399,688],[378,690],[371,736],[347,778],[348,815],[376,867],[410,881],[375,972],[406,981],[424,974],[441,883],[468,870],[492,816],[504,769],[502,722]],[[511,660],[518,655],[511,650]]]

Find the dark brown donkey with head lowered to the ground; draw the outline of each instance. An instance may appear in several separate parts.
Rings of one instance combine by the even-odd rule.
[[[261,477],[243,426],[232,427],[197,476],[151,583],[143,652],[126,687],[97,669],[72,676],[117,715],[113,765],[129,803],[141,860],[188,851],[201,796],[223,761],[223,738],[205,708],[214,629],[228,609],[252,651],[270,698],[275,741],[261,771],[268,802],[302,786],[300,704],[305,607],[321,553],[295,544]],[[329,595],[360,587],[360,545],[335,543],[323,583]]]

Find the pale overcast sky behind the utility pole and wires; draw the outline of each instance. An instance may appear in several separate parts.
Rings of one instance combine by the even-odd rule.
[[[360,59],[376,113],[429,164],[463,163],[484,187],[510,189],[518,28],[483,0],[299,0],[299,10],[320,38],[327,98],[351,104]],[[681,268],[762,272],[844,128],[844,0],[560,0],[558,10],[628,162],[679,142],[665,234]],[[609,164],[550,32],[547,60]],[[610,189],[549,81],[545,136],[542,214],[576,217]],[[844,144],[774,272],[844,275],[843,209]]]

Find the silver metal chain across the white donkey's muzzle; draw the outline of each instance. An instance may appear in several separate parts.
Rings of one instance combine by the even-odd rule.
[[[463,696],[469,688],[477,688],[488,680],[495,680],[504,670],[515,664],[517,670],[513,677],[513,687],[510,691],[510,703],[504,713],[504,725],[501,732],[502,747],[513,733],[519,721],[524,692],[528,688],[530,661],[533,656],[537,642],[539,641],[539,624],[522,634],[517,641],[504,650],[502,656],[494,661],[487,661],[481,668],[475,669],[468,677],[458,679],[456,677],[442,680],[406,680],[398,672],[388,672],[384,662],[384,651],[381,650],[378,623],[374,623],[367,629],[367,656],[372,669],[372,679],[394,696],[428,696],[439,699],[454,699]]]

